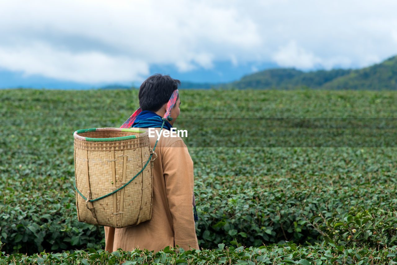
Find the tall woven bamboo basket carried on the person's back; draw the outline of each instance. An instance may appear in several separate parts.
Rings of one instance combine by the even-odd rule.
[[[148,133],[95,128],[73,136],[79,221],[121,228],[150,220],[156,155]]]

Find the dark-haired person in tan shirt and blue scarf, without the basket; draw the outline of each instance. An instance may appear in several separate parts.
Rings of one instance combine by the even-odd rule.
[[[131,115],[135,119],[132,127],[146,131],[148,129],[145,128],[153,127],[160,132],[164,121],[161,118],[167,112],[170,97],[177,95],[162,129],[171,130],[180,113],[181,101],[177,93],[180,84],[179,80],[172,79],[169,75],[148,77],[139,88],[140,109],[136,113],[141,112]],[[132,122],[130,119],[124,126],[129,126],[128,122]],[[152,148],[157,138],[157,134],[149,137]],[[109,252],[118,248],[125,251],[139,248],[157,252],[166,246],[179,246],[184,250],[198,249],[193,213],[193,161],[187,147],[182,138],[164,137],[162,134],[154,152],[157,158],[152,169],[152,217],[133,227],[104,227],[105,250]]]

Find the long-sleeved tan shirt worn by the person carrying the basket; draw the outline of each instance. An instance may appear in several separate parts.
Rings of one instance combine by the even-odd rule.
[[[156,138],[149,137],[152,148]],[[182,138],[162,135],[154,152],[152,218],[133,227],[104,227],[107,251],[139,248],[157,252],[176,245],[198,249],[192,206],[193,161],[187,147]]]

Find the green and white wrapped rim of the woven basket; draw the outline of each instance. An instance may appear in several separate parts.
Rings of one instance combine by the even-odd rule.
[[[112,137],[112,138],[91,138],[91,137],[84,137],[84,136],[79,135],[80,133],[84,133],[84,132],[99,132],[99,131],[137,132],[138,134],[121,136],[121,137]],[[132,128],[127,128],[127,129],[112,128],[112,127],[82,129],[82,130],[77,130],[73,133],[73,137],[75,139],[79,139],[82,141],[88,141],[88,142],[115,142],[115,141],[136,139],[139,137],[144,137],[145,135],[148,135],[148,132],[145,130],[132,129]]]

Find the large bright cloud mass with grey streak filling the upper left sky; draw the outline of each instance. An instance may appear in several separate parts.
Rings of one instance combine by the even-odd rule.
[[[221,46],[260,44],[247,14],[208,1],[3,1],[0,23],[10,25],[0,29],[2,67],[89,83],[137,79],[150,64],[210,69]]]

